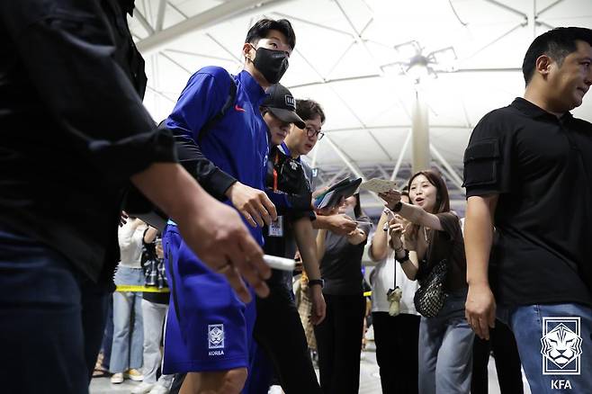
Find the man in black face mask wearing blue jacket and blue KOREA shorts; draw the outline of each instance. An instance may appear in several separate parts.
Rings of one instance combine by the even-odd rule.
[[[259,106],[265,89],[283,76],[294,45],[290,22],[256,22],[243,46],[243,71],[229,76],[220,67],[202,68],[166,119],[184,146],[180,158],[188,159],[190,172],[244,216],[260,244],[262,227],[277,215],[263,192],[269,143]],[[232,267],[211,271],[184,244],[174,223],[166,228],[164,246],[173,291],[164,372],[187,372],[185,392],[238,393],[247,379],[255,303],[238,300],[220,274]]]

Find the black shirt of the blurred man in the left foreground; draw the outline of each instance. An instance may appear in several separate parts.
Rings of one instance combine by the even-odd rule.
[[[175,161],[142,105],[131,0],[0,2],[0,227],[110,280],[130,175]]]

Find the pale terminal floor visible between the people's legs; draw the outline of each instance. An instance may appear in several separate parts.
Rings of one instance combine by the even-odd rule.
[[[499,394],[498,376],[493,359],[489,359],[489,394]],[[524,377],[523,380],[525,381]],[[130,390],[139,383],[124,381],[121,384],[111,384],[109,378],[94,379],[91,382],[91,394],[130,393]],[[381,394],[381,381],[376,365],[374,343],[368,341],[365,352],[360,361],[360,394]],[[525,381],[525,394],[530,394],[528,384]]]

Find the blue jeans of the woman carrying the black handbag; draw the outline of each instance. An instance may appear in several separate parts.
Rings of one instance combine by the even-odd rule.
[[[474,333],[464,318],[466,291],[451,294],[434,318],[419,324],[419,392],[469,394]]]

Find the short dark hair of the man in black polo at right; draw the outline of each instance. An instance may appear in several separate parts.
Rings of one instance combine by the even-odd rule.
[[[536,59],[547,55],[561,67],[563,60],[572,52],[578,50],[577,40],[588,42],[592,46],[592,30],[583,27],[558,27],[547,31],[534,39],[526,50],[522,63],[522,74],[528,85],[534,76]]]

